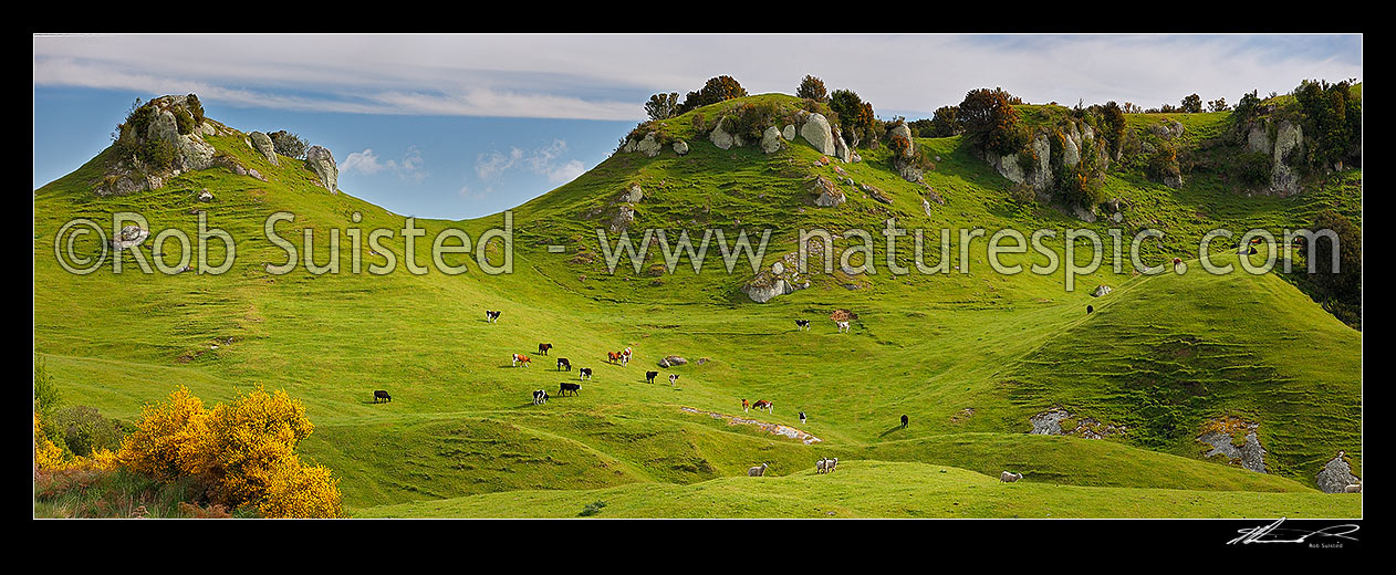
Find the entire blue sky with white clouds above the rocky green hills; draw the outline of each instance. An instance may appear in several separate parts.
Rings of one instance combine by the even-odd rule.
[[[135,98],[195,92],[244,131],[329,148],[342,190],[405,215],[522,204],[614,149],[655,92],[736,77],[852,88],[878,116],[965,92],[1143,107],[1361,78],[1360,35],[45,35],[34,38],[34,186],[109,144]]]

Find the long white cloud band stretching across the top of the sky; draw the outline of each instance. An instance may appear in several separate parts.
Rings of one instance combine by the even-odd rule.
[[[197,92],[235,106],[642,120],[652,92],[804,74],[930,114],[980,87],[1156,106],[1361,77],[1361,35],[106,35],[34,36],[36,87]],[[177,50],[179,57],[170,57]],[[624,56],[617,56],[624,54]],[[761,54],[761,57],[752,57]]]

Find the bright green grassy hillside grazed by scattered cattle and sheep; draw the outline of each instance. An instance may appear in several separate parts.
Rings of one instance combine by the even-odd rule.
[[[711,119],[736,103],[694,113]],[[257,384],[285,388],[317,426],[302,452],[335,470],[346,505],[364,516],[571,516],[595,500],[607,501],[603,515],[620,516],[946,516],[945,502],[962,495],[966,508],[953,511],[965,516],[1268,516],[1287,505],[1302,509],[1286,511],[1290,516],[1360,515],[1356,498],[1312,488],[1337,449],[1353,455],[1360,473],[1360,334],[1275,275],[1141,276],[1125,257],[1121,274],[1107,260],[1067,292],[1061,271],[990,269],[986,237],[972,240],[970,258],[960,261],[953,233],[949,253],[966,274],[893,275],[879,233],[892,216],[900,227],[927,229],[931,265],[940,260],[941,227],[980,226],[990,234],[1004,226],[1025,234],[1087,227],[1104,236],[1107,226],[1009,200],[1011,184],[959,138],[917,140],[938,158],[926,180],[945,200],[927,215],[924,188],[892,173],[885,149],[860,151],[864,162],[839,167],[884,190],[891,205],[842,186],[847,202],[819,208],[804,180],[843,176],[815,166],[819,154],[803,140],[771,155],[750,145],[722,151],[685,131],[691,116],[667,123],[688,141],[688,155],[669,148],[656,158],[616,154],[512,211],[514,274],[504,275],[486,275],[473,261],[461,275],[436,265],[415,275],[403,267],[401,233],[384,241],[396,255],[395,272],[349,274],[346,230],[401,229],[402,216],[328,193],[299,160],[272,166],[240,135],[208,140],[268,181],[209,169],[159,190],[98,198],[89,191],[98,158],[35,191],[35,346],[70,402],[114,417],[137,416],[141,403],[180,384],[208,402]],[[1361,173],[1344,177],[1346,186],[1283,200],[1226,194],[1205,180],[1170,190],[1111,176],[1110,186],[1135,200],[1121,225],[1127,234],[1143,226],[1168,234],[1145,250],[1154,264],[1195,246],[1209,226],[1279,232],[1323,205],[1360,209]],[[743,229],[759,237],[772,227],[768,268],[794,250],[801,227],[864,227],[877,240],[878,274],[811,275],[810,289],[766,304],[740,293],[752,278],[745,260],[736,274],[720,272],[716,246],[702,274],[687,260],[673,275],[652,274],[663,262],[656,248],[639,272],[623,261],[611,275],[595,229],[610,222],[613,202],[631,184],[645,194],[631,230],[701,236],[712,226],[730,240]],[[214,201],[195,198],[204,188]],[[237,239],[226,274],[131,274],[137,264],[127,253],[120,275],[110,265],[73,275],[54,258],[53,239],[73,218],[110,227],[112,214],[138,212],[152,232],[177,227],[197,237],[198,209],[209,226]],[[329,260],[338,232],[342,272],[314,275],[297,265],[288,275],[269,274],[267,264],[286,261],[262,230],[278,211],[295,214],[278,234],[304,257],[300,237],[309,230],[318,265]],[[416,241],[416,261],[430,262],[430,239],[440,230],[461,229],[473,240],[503,222],[503,215],[416,221],[427,230],[427,240]],[[567,251],[547,253],[549,243]],[[903,265],[912,264],[910,244],[910,236],[899,239]],[[1061,234],[1046,244],[1062,255]],[[151,247],[149,240],[142,246],[147,258]],[[500,247],[489,247],[496,264]],[[75,250],[94,253],[98,243],[88,236]],[[359,248],[363,265],[383,262],[370,250],[367,243]],[[211,261],[222,261],[223,251],[212,241]],[[1043,260],[1004,257],[1005,264]],[[1115,292],[1090,297],[1097,285]],[[1085,314],[1087,304],[1096,314]],[[497,324],[486,322],[487,308],[504,310]],[[859,313],[850,334],[836,334],[824,320],[835,308]],[[814,328],[797,331],[796,318],[812,320]],[[535,356],[540,342],[554,343],[551,356]],[[606,352],[625,346],[635,349],[628,367],[604,361]],[[533,366],[511,367],[511,353],[535,356]],[[680,374],[677,385],[646,384],[644,373],[667,354],[690,360],[660,370],[660,381]],[[575,398],[558,398],[558,382],[577,375],[553,371],[553,357],[592,367],[595,378],[582,381]],[[539,388],[554,398],[533,406],[530,392]],[[391,391],[392,403],[373,403],[373,389]],[[775,402],[775,413],[745,417],[822,441],[805,445],[681,409],[743,416],[741,399]],[[1027,435],[1027,419],[1053,405],[1139,431],[1107,440]],[[810,415],[805,424],[801,410]],[[1269,475],[1202,461],[1203,445],[1192,438],[1205,419],[1227,413],[1259,419]],[[912,421],[906,428],[902,415]],[[839,473],[804,477],[824,455],[846,459]],[[744,477],[761,462],[772,465],[768,477]],[[993,491],[1004,469],[1027,473],[1011,488],[1041,497]],[[889,487],[863,488],[874,479]],[[941,491],[893,502],[917,480],[940,481]],[[666,491],[684,502],[644,502]],[[773,502],[715,505],[748,495]],[[1178,501],[1187,507],[1170,505]]]

